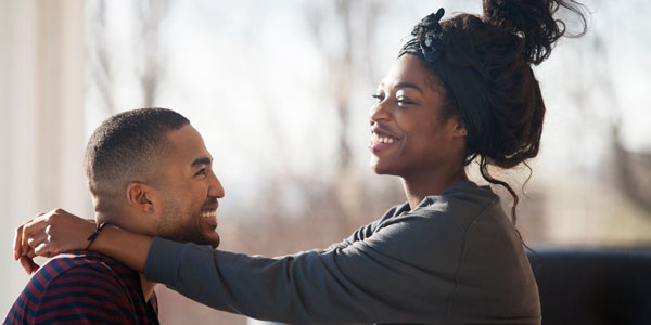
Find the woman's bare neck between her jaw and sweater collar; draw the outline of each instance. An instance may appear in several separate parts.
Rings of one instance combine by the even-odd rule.
[[[413,210],[425,197],[438,195],[452,184],[464,181],[468,181],[464,168],[451,173],[419,172],[413,177],[403,177],[403,187],[409,208]]]

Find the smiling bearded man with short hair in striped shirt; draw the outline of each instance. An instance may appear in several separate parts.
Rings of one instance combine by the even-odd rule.
[[[98,224],[219,245],[224,188],[203,139],[180,114],[143,108],[108,118],[84,165]],[[158,324],[154,285],[104,255],[71,251],[38,270],[3,324]]]

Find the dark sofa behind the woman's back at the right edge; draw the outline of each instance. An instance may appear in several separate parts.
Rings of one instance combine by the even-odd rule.
[[[651,325],[651,247],[535,251],[544,325]]]

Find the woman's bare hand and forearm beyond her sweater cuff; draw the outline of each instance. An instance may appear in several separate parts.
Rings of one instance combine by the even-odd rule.
[[[88,237],[94,230],[94,221],[81,219],[62,209],[38,214],[16,229],[14,258],[21,260],[27,273],[33,273],[38,269],[31,261],[34,255],[52,257],[64,251],[86,249]],[[151,237],[107,225],[89,249],[143,272],[151,243]]]

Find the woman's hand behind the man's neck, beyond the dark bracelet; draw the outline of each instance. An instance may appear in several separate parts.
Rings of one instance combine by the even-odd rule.
[[[53,257],[64,251],[84,249],[94,229],[93,220],[81,219],[63,209],[39,213],[16,227],[14,259],[21,261],[27,274],[31,274],[39,268],[33,260],[35,256]]]

